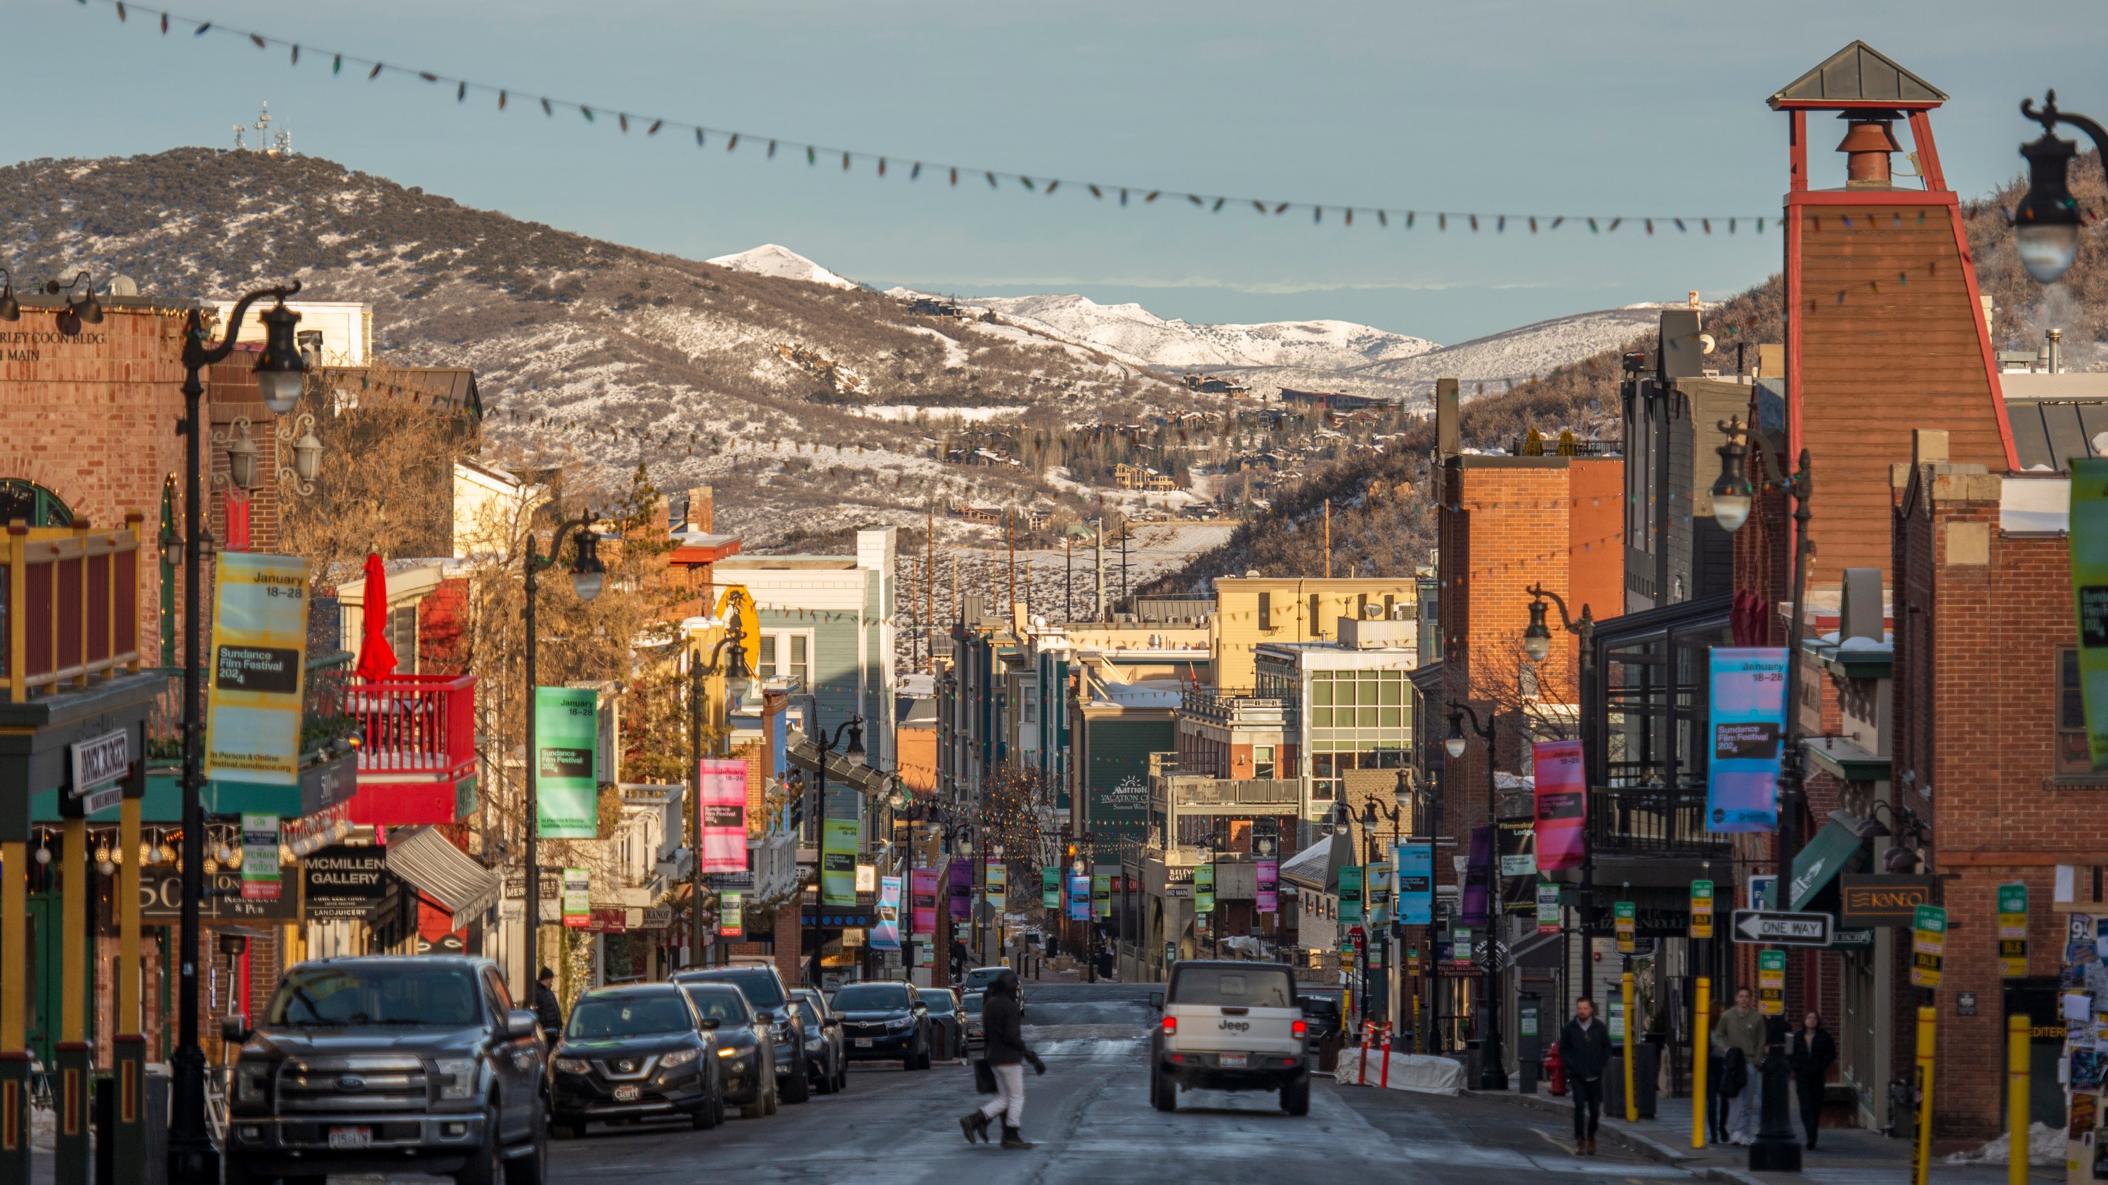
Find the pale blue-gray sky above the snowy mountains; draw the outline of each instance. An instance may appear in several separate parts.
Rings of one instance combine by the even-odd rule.
[[[173,4],[164,36],[152,4]],[[782,242],[875,287],[1084,293],[1187,320],[1339,318],[1461,342],[1530,320],[1779,268],[1756,234],[1785,190],[1785,116],[1764,99],[1853,38],[1952,101],[1952,188],[2019,171],[2017,103],[2064,86],[2108,116],[2097,0],[2024,13],[1956,0],[0,0],[11,118],[0,162],[230,148],[268,101],[293,150],[563,230],[706,259]],[[280,46],[211,32],[261,32]],[[318,48],[588,103],[544,116],[415,76],[331,72]],[[746,133],[624,135],[605,112]],[[1811,135],[1815,183],[1840,183]],[[1832,131],[1836,135],[1832,135]],[[757,137],[885,154],[807,167]],[[1056,177],[957,188],[913,160]],[[1899,167],[1908,169],[1908,164]],[[1094,200],[1084,181],[1132,186]],[[1320,202],[1218,213],[1151,188]],[[1360,207],[1345,226],[1339,207]],[[1579,221],[1530,236],[1463,219],[1377,226],[1374,207],[1712,217],[1648,238]],[[1720,219],[1737,217],[1731,236]],[[4,261],[0,261],[4,266]]]

